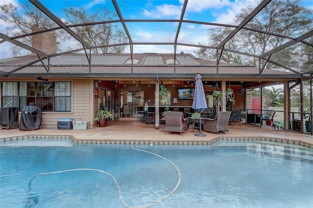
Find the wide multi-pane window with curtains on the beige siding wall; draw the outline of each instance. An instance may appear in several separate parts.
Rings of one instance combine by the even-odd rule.
[[[35,103],[42,111],[70,111],[70,82],[2,82],[2,106]]]

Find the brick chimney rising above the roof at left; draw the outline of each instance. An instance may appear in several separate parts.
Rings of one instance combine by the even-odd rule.
[[[45,30],[43,27],[33,27],[32,32]],[[57,52],[57,37],[49,32],[39,33],[31,37],[32,47],[46,54],[55,54]],[[37,56],[36,53],[31,53],[31,56]]]

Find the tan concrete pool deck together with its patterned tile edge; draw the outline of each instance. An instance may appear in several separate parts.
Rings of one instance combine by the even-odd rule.
[[[195,131],[197,133],[197,130]],[[72,136],[76,143],[81,144],[182,144],[182,145],[204,145],[209,142],[221,140],[256,140],[256,141],[273,141],[277,143],[289,143],[295,141],[302,146],[313,148],[313,136],[301,134],[286,130],[275,130],[273,127],[263,125],[242,124],[240,126],[235,123],[232,127],[229,123],[229,131],[224,134],[209,133],[205,137],[197,137],[191,129],[183,132],[180,136],[179,132],[167,132],[164,129],[156,130],[154,125],[145,125],[137,123],[134,119],[121,119],[120,121],[110,121],[105,128],[94,127],[87,130],[56,130],[42,128],[36,131],[19,131],[18,129],[1,130],[1,141],[4,138],[22,138],[22,136],[34,136],[35,138],[46,138],[48,136],[58,136],[62,138],[65,135]],[[15,140],[15,139],[14,139]],[[207,142],[207,143],[200,143]]]

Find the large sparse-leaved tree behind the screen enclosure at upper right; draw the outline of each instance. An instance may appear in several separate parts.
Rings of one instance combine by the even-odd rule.
[[[235,23],[239,24],[242,22],[253,9],[254,7],[251,5],[242,9],[242,12],[234,19]],[[284,36],[297,37],[299,34],[310,31],[310,28],[312,29],[312,15],[313,11],[300,6],[299,0],[272,0],[245,27]],[[233,29],[223,27],[208,29],[209,45],[210,43],[216,44],[222,42],[231,30]],[[225,43],[224,48],[252,55],[261,55],[286,41],[288,41],[286,38],[242,29]],[[293,61],[294,59],[291,59],[291,57],[299,57],[300,51],[301,49],[295,44],[273,54],[271,59],[283,62],[291,68],[295,65],[298,68],[299,63]],[[216,51],[201,48],[195,52],[202,59],[216,60]],[[256,57],[225,50],[222,53],[221,60],[234,64],[258,65],[258,58]],[[267,64],[267,68],[274,67],[276,66],[272,63]]]

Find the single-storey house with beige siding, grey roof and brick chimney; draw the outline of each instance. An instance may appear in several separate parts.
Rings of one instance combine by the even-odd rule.
[[[41,29],[34,28],[34,31],[38,30]],[[42,49],[47,54],[55,54],[55,38],[49,33],[40,33],[33,38],[32,47]],[[92,122],[95,111],[105,104],[121,104],[118,116],[134,116],[136,107],[143,107],[147,102],[149,106],[156,106],[158,115],[160,84],[164,84],[170,92],[170,105],[187,108],[192,105],[192,99],[180,99],[179,89],[194,88],[197,73],[202,76],[208,103],[213,90],[232,88],[236,104],[227,106],[222,102],[220,110],[246,108],[245,89],[272,83],[288,86],[289,82],[301,79],[299,74],[270,69],[264,69],[259,74],[259,68],[255,66],[217,65],[216,62],[201,60],[183,52],[69,53],[51,56],[49,59],[39,59],[33,53],[1,59],[0,71],[1,106],[12,101],[11,104],[21,111],[29,103],[36,103],[42,109],[43,128],[56,128],[60,118],[89,121],[92,128],[95,125]],[[129,102],[129,99],[137,100]],[[132,103],[132,112],[127,115],[124,114],[123,105],[129,103]],[[287,114],[285,118],[288,118]],[[155,125],[158,128],[158,121]]]

